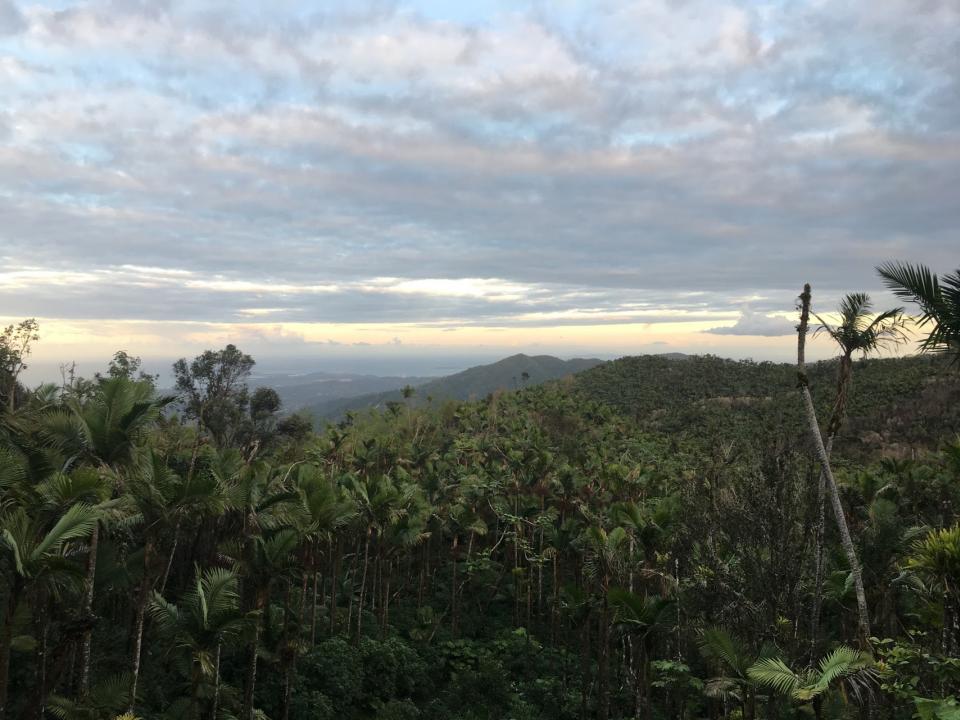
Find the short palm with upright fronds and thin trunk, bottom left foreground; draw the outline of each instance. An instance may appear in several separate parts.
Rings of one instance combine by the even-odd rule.
[[[161,637],[189,659],[190,705],[194,716],[206,714],[216,720],[220,702],[220,653],[224,644],[237,639],[249,618],[240,610],[237,574],[234,570],[196,570],[192,587],[179,604],[153,594],[150,617]],[[201,712],[200,690],[212,686],[209,708]]]

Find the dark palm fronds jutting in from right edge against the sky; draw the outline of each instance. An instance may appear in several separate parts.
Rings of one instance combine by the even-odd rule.
[[[897,297],[920,306],[920,327],[931,326],[920,349],[948,353],[960,363],[960,269],[942,280],[926,265],[910,263],[884,263],[877,272]]]

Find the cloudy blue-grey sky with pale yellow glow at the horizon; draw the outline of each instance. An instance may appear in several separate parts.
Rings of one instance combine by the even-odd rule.
[[[37,368],[788,360],[804,282],[958,264],[958,181],[958,0],[0,0]]]

